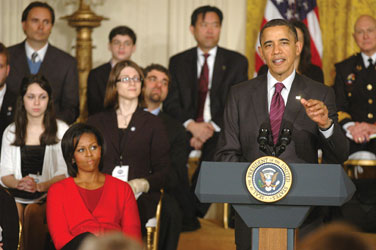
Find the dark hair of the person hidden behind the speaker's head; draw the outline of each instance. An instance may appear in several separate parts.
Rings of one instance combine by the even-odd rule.
[[[302,52],[300,53],[300,61],[298,66],[298,71],[305,75],[309,70],[309,65],[311,64],[311,38],[309,36],[309,31],[307,26],[301,21],[292,21],[292,24],[296,29],[300,29],[303,33],[304,43],[302,44]]]

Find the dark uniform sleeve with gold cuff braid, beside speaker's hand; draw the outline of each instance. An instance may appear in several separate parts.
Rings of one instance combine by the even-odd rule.
[[[339,114],[338,122],[343,125],[350,122],[351,116],[348,113],[349,101],[346,97],[345,80],[343,74],[341,74],[341,67],[336,65],[336,77],[334,80],[334,91],[336,96],[337,111]]]

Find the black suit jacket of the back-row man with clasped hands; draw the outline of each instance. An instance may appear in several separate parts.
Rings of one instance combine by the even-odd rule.
[[[171,82],[163,110],[180,122],[195,120],[198,109],[197,47],[170,59]],[[222,116],[230,87],[248,79],[247,59],[231,50],[218,47],[210,90],[212,120],[222,126]]]

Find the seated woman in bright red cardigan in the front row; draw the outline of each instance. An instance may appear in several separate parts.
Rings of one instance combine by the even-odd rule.
[[[47,195],[47,223],[56,249],[77,249],[89,234],[122,231],[141,241],[140,219],[131,187],[100,172],[103,137],[78,123],[62,142],[70,178],[55,183]]]

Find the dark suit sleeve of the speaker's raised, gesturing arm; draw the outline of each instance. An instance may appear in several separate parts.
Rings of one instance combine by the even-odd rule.
[[[342,163],[349,155],[349,142],[338,124],[334,91],[328,88],[324,103],[328,108],[329,118],[334,122],[333,134],[325,139],[320,133],[321,148],[323,150],[323,160],[325,163]]]

